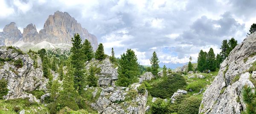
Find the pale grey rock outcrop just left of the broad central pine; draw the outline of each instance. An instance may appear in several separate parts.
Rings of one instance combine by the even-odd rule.
[[[90,62],[87,62],[86,69],[89,70],[90,66],[100,68],[101,71],[96,76],[99,77],[98,83],[101,87],[114,85],[113,82],[118,79],[117,68],[113,68],[113,64],[111,64],[109,58],[104,59],[100,64],[98,60],[93,58]]]

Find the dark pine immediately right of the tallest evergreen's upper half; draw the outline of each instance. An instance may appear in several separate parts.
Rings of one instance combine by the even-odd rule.
[[[92,60],[94,57],[93,47],[87,39],[84,40],[82,45],[82,53],[84,54],[84,59],[87,59],[87,61]]]

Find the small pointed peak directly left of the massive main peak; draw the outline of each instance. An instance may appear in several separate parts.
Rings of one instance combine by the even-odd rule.
[[[24,42],[33,42],[35,39],[38,39],[38,32],[36,31],[35,25],[31,23],[26,28],[23,28],[22,39]]]

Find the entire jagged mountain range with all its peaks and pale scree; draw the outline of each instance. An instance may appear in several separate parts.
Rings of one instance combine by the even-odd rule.
[[[75,33],[79,33],[84,41],[91,42],[93,50],[98,47],[98,40],[95,35],[82,28],[81,24],[71,17],[67,12],[56,11],[49,15],[44,23],[44,28],[37,32],[32,23],[23,28],[23,34],[17,28],[15,22],[6,25],[3,32],[0,32],[0,45],[13,45],[22,50],[55,47],[70,47],[71,38]]]

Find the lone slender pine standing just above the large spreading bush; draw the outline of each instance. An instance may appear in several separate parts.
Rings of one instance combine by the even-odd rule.
[[[150,64],[151,64],[152,74],[157,78],[159,60],[157,58],[157,53],[155,51],[153,52],[153,56],[150,58]]]

